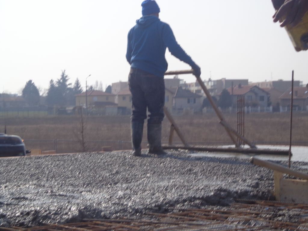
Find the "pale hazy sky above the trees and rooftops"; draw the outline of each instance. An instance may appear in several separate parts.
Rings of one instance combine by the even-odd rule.
[[[85,87],[127,81],[128,30],[141,17],[140,0],[0,0],[0,92],[18,93],[29,79],[48,88],[66,70]],[[308,51],[296,52],[272,22],[270,0],[157,0],[201,78],[308,82]],[[167,50],[168,70],[190,67]],[[210,74],[211,73],[211,74]],[[181,76],[187,82],[192,75]]]

